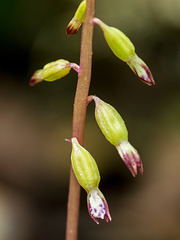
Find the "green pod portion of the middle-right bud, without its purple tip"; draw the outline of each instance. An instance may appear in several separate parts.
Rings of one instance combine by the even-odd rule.
[[[121,141],[128,140],[126,125],[116,109],[96,96],[89,99],[95,101],[95,118],[105,138],[116,147]]]

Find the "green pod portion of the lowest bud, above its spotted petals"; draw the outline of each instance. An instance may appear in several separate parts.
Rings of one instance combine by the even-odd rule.
[[[87,192],[92,188],[97,188],[100,182],[100,174],[94,158],[78,143],[76,138],[72,138],[71,142],[72,168],[79,184]]]

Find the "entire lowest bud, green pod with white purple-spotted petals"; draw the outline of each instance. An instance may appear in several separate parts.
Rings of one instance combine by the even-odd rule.
[[[99,190],[100,174],[91,154],[83,148],[76,138],[71,139],[71,163],[77,181],[87,192],[87,205],[91,218],[99,224],[97,218],[111,221],[108,204]]]

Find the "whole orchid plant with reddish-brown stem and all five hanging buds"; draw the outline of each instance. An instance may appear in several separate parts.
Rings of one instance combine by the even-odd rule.
[[[100,173],[96,161],[83,147],[84,127],[87,105],[94,100],[95,118],[105,138],[116,147],[121,159],[132,175],[138,169],[143,174],[143,164],[137,150],[128,141],[128,131],[124,120],[114,107],[97,96],[88,96],[92,67],[92,36],[94,24],[103,31],[104,38],[112,52],[132,69],[146,84],[155,84],[146,63],[137,56],[130,39],[119,29],[110,27],[94,17],[95,0],[83,0],[66,28],[67,36],[75,34],[82,26],[80,64],[59,59],[46,64],[35,71],[30,79],[34,86],[41,81],[52,82],[63,78],[73,69],[78,73],[78,82],[74,99],[73,131],[71,140],[71,170],[67,209],[66,240],[77,239],[80,186],[87,192],[89,215],[95,223],[99,218],[106,222],[112,220],[107,201],[99,190]]]

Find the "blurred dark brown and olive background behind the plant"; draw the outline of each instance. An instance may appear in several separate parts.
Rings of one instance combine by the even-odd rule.
[[[79,63],[81,31],[65,29],[78,0],[1,0],[0,239],[65,239],[77,74],[29,86],[36,69]],[[142,83],[94,28],[90,94],[122,115],[144,176],[134,179],[88,106],[85,147],[97,160],[113,218],[97,226],[82,190],[79,240],[180,239],[180,0],[97,0],[96,17],[126,33],[156,85]]]

